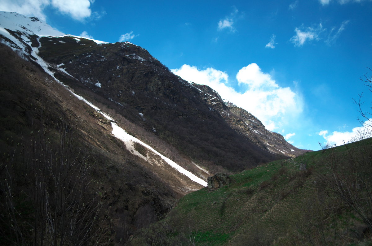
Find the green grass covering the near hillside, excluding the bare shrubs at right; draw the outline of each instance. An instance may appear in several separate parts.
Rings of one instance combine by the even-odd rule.
[[[320,232],[315,225],[320,220],[324,223],[323,236],[317,243],[327,244],[335,230],[345,234],[350,224],[362,222],[350,207],[332,204],[335,200],[326,195],[331,194],[323,178],[330,172],[329,163],[337,160],[346,165],[349,155],[362,158],[371,145],[372,139],[366,139],[231,175],[231,184],[222,188],[203,188],[185,195],[172,213],[158,223],[172,224],[174,231],[183,232],[186,239],[197,232],[196,245],[291,245],[317,239]],[[307,170],[300,171],[299,164],[306,164]],[[338,221],[337,228],[330,221]],[[190,225],[194,234],[187,229]],[[309,239],[304,231],[314,239]],[[343,243],[358,240],[347,239],[351,237],[347,233],[339,237],[338,242]]]

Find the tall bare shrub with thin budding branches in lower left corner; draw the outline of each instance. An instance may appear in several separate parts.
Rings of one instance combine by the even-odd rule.
[[[0,163],[1,237],[25,245],[94,245],[102,203],[91,187],[87,150],[76,149],[75,126],[31,132]]]

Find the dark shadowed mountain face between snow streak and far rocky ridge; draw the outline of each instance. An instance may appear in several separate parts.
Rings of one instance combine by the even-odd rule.
[[[56,75],[78,94],[110,105],[186,156],[209,164],[208,168],[218,165],[238,171],[282,158],[235,132],[219,112],[209,110],[195,86],[172,74],[141,47],[98,45],[71,37],[44,37],[40,42],[39,55],[55,71],[63,68],[76,78]]]

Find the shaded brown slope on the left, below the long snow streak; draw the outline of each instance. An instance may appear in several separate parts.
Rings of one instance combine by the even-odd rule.
[[[58,211],[53,198],[55,189],[62,184],[58,181],[60,179],[48,178],[45,181],[43,178],[55,177],[58,169],[55,169],[52,155],[60,152],[69,153],[69,158],[66,154],[62,156],[73,160],[73,168],[81,163],[87,165],[84,172],[75,173],[71,169],[71,176],[61,174],[63,180],[74,182],[73,186],[61,187],[61,195],[66,196],[63,204],[73,205],[81,201],[79,205],[83,208],[83,204],[92,201],[99,204],[100,212],[94,215],[99,222],[92,225],[91,232],[103,233],[100,238],[103,242],[113,240],[115,235],[128,238],[138,228],[161,219],[177,198],[202,187],[191,180],[174,177],[173,172],[157,175],[156,169],[149,167],[150,162],[133,155],[123,142],[110,134],[109,120],[81,103],[62,85],[51,82],[52,77],[21,59],[8,47],[1,45],[0,55],[1,245],[28,245],[32,238],[42,242],[38,232],[43,226],[53,226],[47,223],[50,221],[47,216],[51,211]],[[71,137],[65,138],[66,134]],[[60,141],[64,144],[59,145]],[[140,146],[137,149],[146,152]],[[45,151],[50,157],[44,155]],[[51,175],[42,175],[39,172],[49,170],[45,169],[49,163],[47,160],[52,160]],[[161,163],[161,160],[157,161]],[[74,181],[73,175],[84,177],[88,182],[83,193],[87,197],[79,200],[68,198],[70,194],[81,191],[83,184],[81,179]],[[45,188],[38,184],[44,184]],[[51,199],[44,203],[48,213],[40,205],[43,196],[34,197],[43,192]],[[88,209],[80,208],[84,212],[80,215],[76,211],[71,215],[81,219],[93,215]],[[80,226],[76,231],[83,229]],[[93,245],[95,237],[90,236]],[[73,234],[73,239],[77,238]],[[48,242],[46,236],[44,240],[44,243]]]

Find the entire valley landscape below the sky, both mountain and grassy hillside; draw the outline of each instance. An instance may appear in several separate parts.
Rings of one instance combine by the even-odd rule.
[[[133,43],[0,27],[1,245],[369,240],[369,139],[299,149]]]

